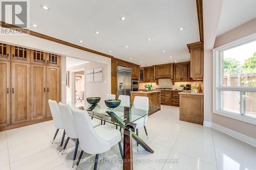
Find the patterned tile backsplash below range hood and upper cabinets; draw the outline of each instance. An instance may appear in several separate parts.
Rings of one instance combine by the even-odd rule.
[[[203,82],[202,82],[203,83]],[[180,89],[181,84],[191,84],[191,87],[196,85],[196,82],[175,82],[174,85],[172,83],[171,79],[159,79],[158,80],[158,85],[156,83],[139,83],[139,89],[145,89],[146,84],[152,84],[153,89],[156,88],[177,88]]]

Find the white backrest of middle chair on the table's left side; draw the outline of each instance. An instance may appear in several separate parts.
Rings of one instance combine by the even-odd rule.
[[[78,138],[70,106],[67,104],[59,103],[59,110],[67,136],[71,138]]]

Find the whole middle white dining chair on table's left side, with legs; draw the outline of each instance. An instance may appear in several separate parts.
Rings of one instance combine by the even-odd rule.
[[[69,139],[70,138],[76,139],[76,147],[75,147],[75,152],[74,152],[74,157],[73,157],[73,164],[72,164],[72,167],[74,167],[75,158],[76,158],[76,154],[77,154],[77,150],[78,150],[79,140],[78,140],[77,132],[76,132],[76,129],[75,129],[73,114],[72,114],[70,106],[67,105],[67,104],[59,103],[59,110],[60,110],[60,113],[61,113],[61,118],[62,118],[62,122],[63,122],[64,128],[65,128],[66,135],[68,136],[68,138],[65,142],[65,145],[63,147],[62,154],[64,153],[64,150],[67,147]],[[96,127],[96,126],[99,125],[99,123],[97,123],[95,120],[91,120],[91,122],[92,122],[93,127]]]

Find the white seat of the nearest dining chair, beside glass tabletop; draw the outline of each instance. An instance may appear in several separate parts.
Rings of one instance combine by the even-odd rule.
[[[121,140],[121,133],[119,130],[110,126],[100,125],[94,128],[96,134],[104,141],[109,142],[111,147]]]

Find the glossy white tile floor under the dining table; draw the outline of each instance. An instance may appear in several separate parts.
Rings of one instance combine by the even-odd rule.
[[[49,121],[0,132],[0,169],[72,169],[74,141],[70,140],[61,155],[61,130],[51,144],[55,131]],[[134,169],[256,169],[256,148],[216,130],[180,121],[178,107],[162,106],[149,116],[147,131],[149,139],[143,128],[139,136],[155,153],[141,147],[138,152],[134,147],[134,159],[142,161],[135,163]],[[84,154],[83,158],[93,160],[94,155]],[[102,158],[120,159],[118,146],[101,154]],[[164,163],[165,159],[168,162]],[[176,160],[178,163],[172,163]],[[80,163],[77,169],[93,169],[93,163]],[[122,164],[99,163],[98,169],[122,169]]]

